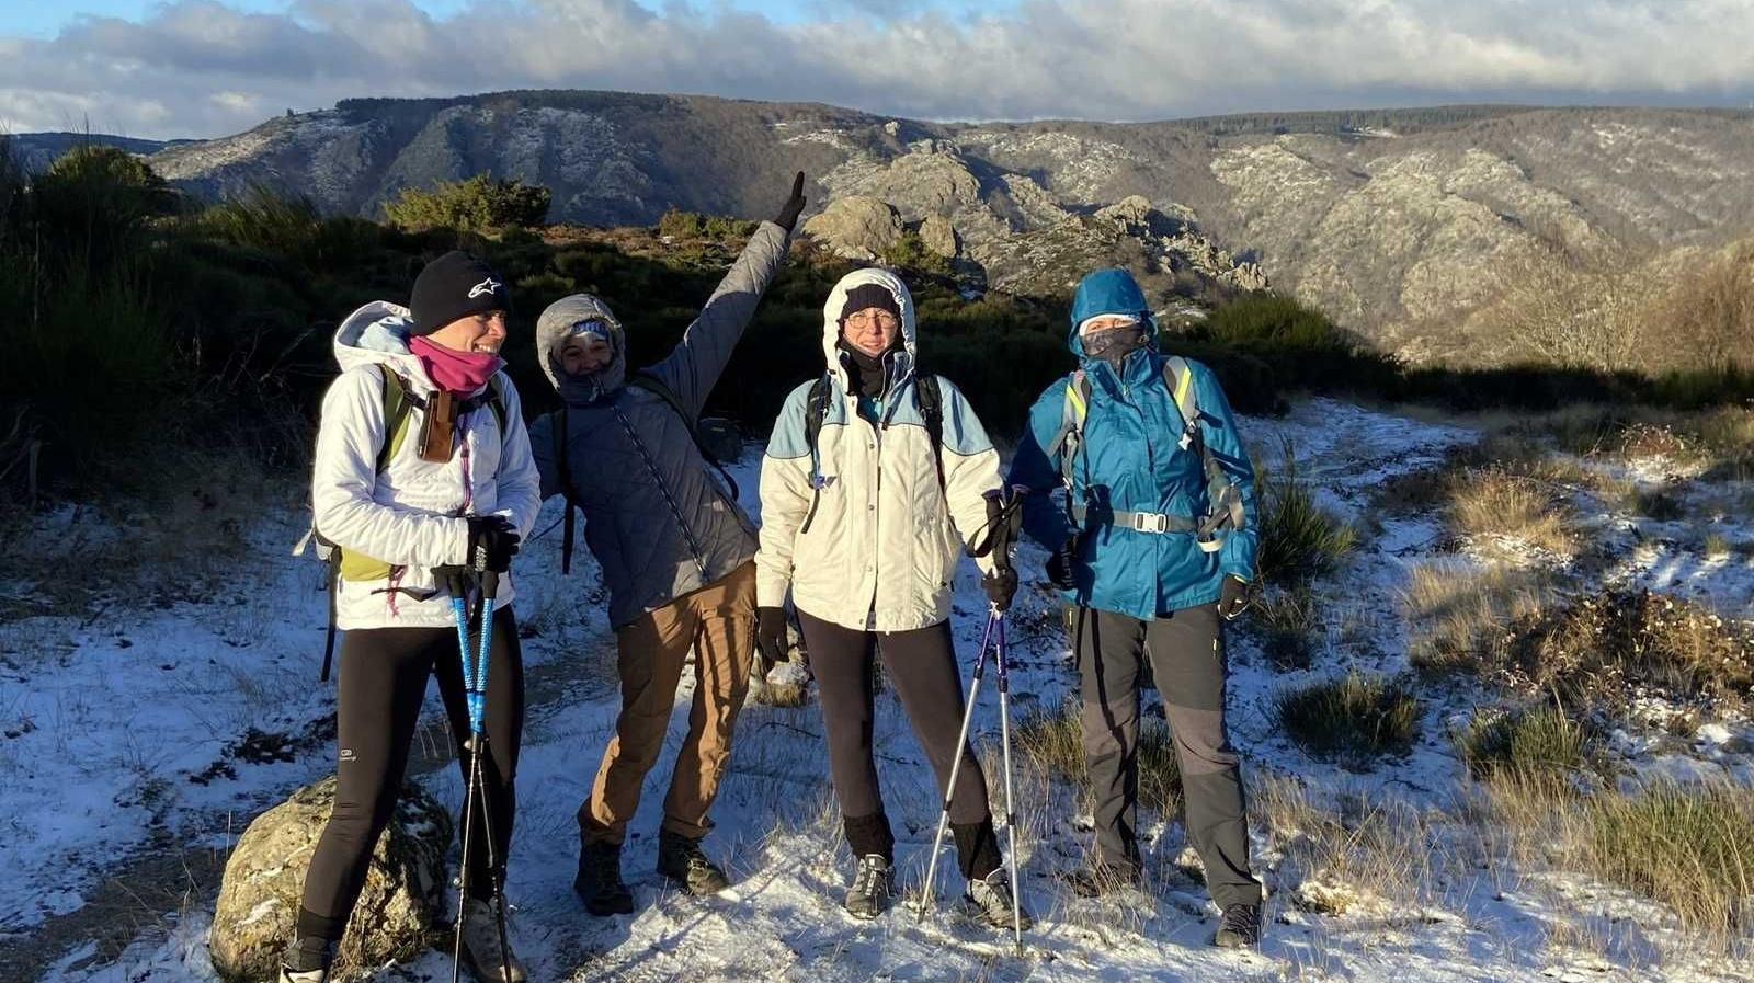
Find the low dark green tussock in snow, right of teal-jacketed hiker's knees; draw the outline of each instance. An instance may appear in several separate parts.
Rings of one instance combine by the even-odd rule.
[[[1405,680],[1347,673],[1275,697],[1280,727],[1310,755],[1363,767],[1386,753],[1412,750],[1419,701]]]

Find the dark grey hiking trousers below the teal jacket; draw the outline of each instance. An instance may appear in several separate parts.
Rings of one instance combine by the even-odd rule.
[[[1259,904],[1238,755],[1224,729],[1224,643],[1217,605],[1154,620],[1080,608],[1084,759],[1096,803],[1096,860],[1138,867],[1138,682],[1145,655],[1163,694],[1187,803],[1187,839],[1219,908]]]

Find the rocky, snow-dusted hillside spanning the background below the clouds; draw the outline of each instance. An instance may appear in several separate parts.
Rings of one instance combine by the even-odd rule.
[[[805,170],[812,212],[858,194],[888,202],[909,228],[944,219],[959,254],[1003,289],[1058,291],[1103,261],[1149,268],[1159,291],[1270,282],[1389,347],[1442,333],[1486,300],[1494,258],[1542,233],[1663,251],[1754,230],[1754,112],[1740,110],[963,124],[821,103],[514,91],[347,100],[167,147],[153,165],[209,198],[265,182],[361,214],[403,187],[491,172],[549,186],[551,217],[584,224],[649,224],[670,207],[758,217],[784,175]],[[1147,210],[1131,202],[1093,219],[1130,196]]]

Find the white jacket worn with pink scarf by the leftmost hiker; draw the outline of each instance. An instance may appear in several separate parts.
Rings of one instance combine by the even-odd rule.
[[[316,468],[310,480],[314,526],[326,540],[395,564],[388,578],[337,585],[335,624],[354,627],[449,627],[451,598],[437,592],[431,568],[461,564],[468,554],[465,515],[503,515],[519,538],[535,526],[537,466],[530,435],[510,378],[502,378],[505,433],[486,405],[463,419],[461,443],[451,461],[419,457],[423,410],[412,408],[409,431],[384,473],[384,371],[409,382],[419,396],[437,387],[409,352],[409,312],[374,301],[353,312],[335,331],[342,373],[323,396]],[[400,591],[393,591],[400,589]],[[512,603],[512,578],[500,580],[495,610]]]

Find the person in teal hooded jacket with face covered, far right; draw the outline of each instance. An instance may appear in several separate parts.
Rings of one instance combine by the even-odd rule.
[[[1223,911],[1214,943],[1261,934],[1261,885],[1224,725],[1221,626],[1254,578],[1254,468],[1212,371],[1158,350],[1158,326],[1126,270],[1096,270],[1072,301],[1079,370],[1030,410],[1010,484],[1024,531],[1052,550],[1049,580],[1077,606],[1084,755],[1096,850],[1072,876],[1094,895],[1140,880],[1138,685],[1149,652],[1175,732],[1187,839]],[[1051,492],[1065,489],[1065,501]]]

